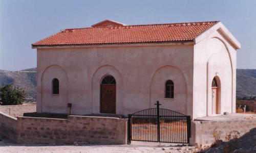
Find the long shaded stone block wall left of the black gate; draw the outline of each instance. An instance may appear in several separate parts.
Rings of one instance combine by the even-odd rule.
[[[17,143],[127,143],[126,119],[68,116],[68,119],[17,117],[15,120],[4,113],[2,116],[0,130],[12,126],[13,138],[9,134],[7,137]]]

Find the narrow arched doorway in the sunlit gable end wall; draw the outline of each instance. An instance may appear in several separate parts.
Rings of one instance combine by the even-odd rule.
[[[216,77],[212,80],[211,83],[211,95],[212,95],[212,114],[218,114],[218,108],[219,108],[219,95],[218,95],[218,83],[216,80]]]

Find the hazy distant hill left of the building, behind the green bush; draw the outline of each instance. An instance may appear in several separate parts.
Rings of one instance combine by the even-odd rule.
[[[27,101],[35,101],[36,98],[36,68],[20,71],[0,70],[0,86],[12,84],[22,88],[27,93]]]

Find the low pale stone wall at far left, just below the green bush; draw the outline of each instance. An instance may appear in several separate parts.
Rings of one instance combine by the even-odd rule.
[[[23,116],[23,113],[36,112],[36,104],[33,105],[0,105],[0,112],[13,117]]]

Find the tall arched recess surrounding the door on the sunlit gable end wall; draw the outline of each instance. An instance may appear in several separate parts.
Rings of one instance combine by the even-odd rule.
[[[232,101],[233,101],[233,69],[232,61],[230,57],[229,50],[224,41],[220,38],[211,38],[206,45],[206,50],[208,50],[211,55],[207,60],[207,104],[206,104],[206,115],[213,115],[212,113],[212,79],[217,75],[219,81],[222,82],[222,88],[219,91],[219,103],[217,113],[221,114],[223,111],[231,112]],[[211,45],[210,45],[211,44]],[[214,44],[215,47],[212,47]],[[224,101],[226,101],[224,103]]]

